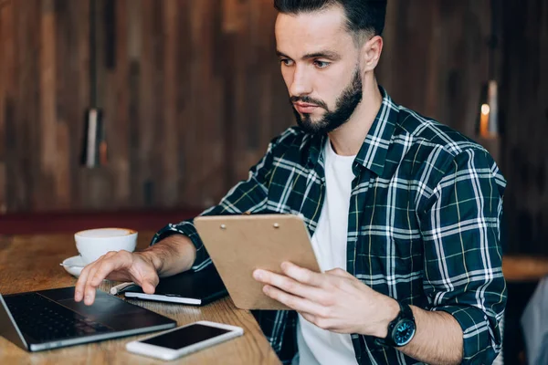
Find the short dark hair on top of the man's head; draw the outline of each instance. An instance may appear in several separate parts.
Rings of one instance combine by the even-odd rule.
[[[385,29],[387,0],[274,0],[274,7],[282,14],[299,15],[341,5],[346,14],[346,26],[354,36],[367,33],[380,36]]]

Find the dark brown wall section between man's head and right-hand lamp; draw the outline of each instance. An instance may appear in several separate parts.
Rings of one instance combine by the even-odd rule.
[[[473,137],[489,36],[488,0],[389,0],[380,83],[396,102]]]

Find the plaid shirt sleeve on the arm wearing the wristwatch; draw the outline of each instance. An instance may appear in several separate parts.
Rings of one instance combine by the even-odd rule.
[[[458,153],[447,164],[421,217],[423,287],[431,310],[457,319],[463,364],[490,364],[501,350],[506,306],[501,268],[505,181],[487,151]]]

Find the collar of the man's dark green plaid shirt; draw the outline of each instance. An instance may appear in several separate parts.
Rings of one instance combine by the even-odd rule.
[[[364,143],[358,151],[353,163],[354,174],[357,174],[355,166],[363,166],[371,170],[376,175],[381,176],[385,170],[385,161],[388,148],[392,141],[395,130],[395,124],[398,115],[398,106],[392,98],[386,93],[385,89],[379,86],[383,102],[373,124],[365,137]],[[326,135],[307,135],[310,139],[310,148],[308,155],[308,166],[315,166],[321,156],[321,148],[326,142]],[[305,143],[306,144],[306,143]]]

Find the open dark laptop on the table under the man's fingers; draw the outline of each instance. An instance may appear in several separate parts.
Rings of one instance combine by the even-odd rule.
[[[27,351],[116,339],[176,324],[100,290],[90,307],[74,301],[74,287],[0,295],[0,336]]]

